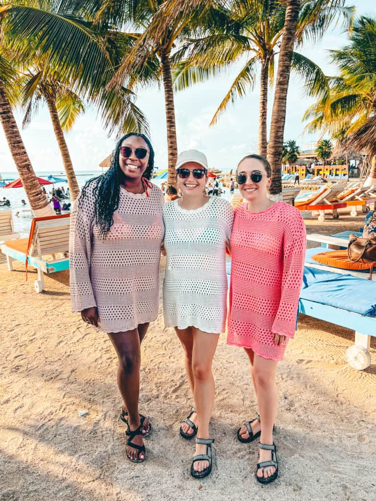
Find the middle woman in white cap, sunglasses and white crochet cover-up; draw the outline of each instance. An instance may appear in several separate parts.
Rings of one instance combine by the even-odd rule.
[[[191,475],[212,470],[209,422],[215,384],[212,361],[225,331],[227,276],[226,243],[234,217],[232,206],[205,194],[208,162],[204,153],[183,151],[177,157],[180,199],[163,205],[166,269],[163,311],[166,327],[174,327],[185,352],[185,370],[196,408],[180,426],[180,435],[197,435]]]

